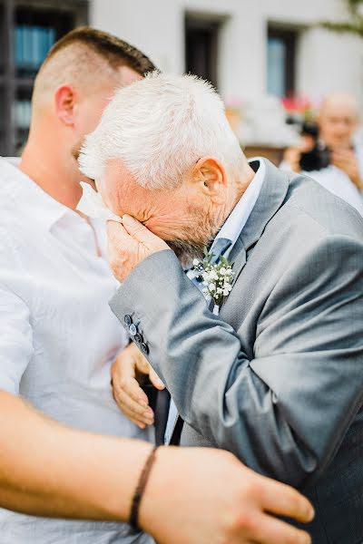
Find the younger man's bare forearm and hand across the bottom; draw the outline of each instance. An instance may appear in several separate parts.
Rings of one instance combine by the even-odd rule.
[[[0,413],[3,507],[54,518],[129,520],[151,444],[67,429],[2,391]],[[160,448],[146,483],[138,522],[159,544],[310,542],[307,533],[271,516],[309,521],[309,501],[228,452]],[[76,539],[70,535],[68,542]],[[31,534],[23,541],[38,543]],[[104,541],[102,530],[97,541]],[[1,542],[14,539],[2,533]]]

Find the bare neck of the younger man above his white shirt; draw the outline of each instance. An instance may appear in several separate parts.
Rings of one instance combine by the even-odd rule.
[[[55,200],[67,208],[76,208],[82,197],[82,188],[75,160],[74,163],[72,159],[66,160],[46,144],[38,145],[30,140],[25,146],[19,169]]]

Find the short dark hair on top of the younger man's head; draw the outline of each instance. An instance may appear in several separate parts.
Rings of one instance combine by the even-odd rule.
[[[120,38],[91,26],[79,26],[65,34],[50,50],[44,63],[71,44],[83,44],[102,56],[114,69],[126,65],[144,75],[156,70],[152,61],[139,49]]]

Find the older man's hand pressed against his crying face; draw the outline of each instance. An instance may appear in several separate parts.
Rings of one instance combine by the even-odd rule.
[[[122,283],[133,268],[157,251],[169,246],[137,219],[123,216],[123,225],[108,221],[108,258],[114,276]]]

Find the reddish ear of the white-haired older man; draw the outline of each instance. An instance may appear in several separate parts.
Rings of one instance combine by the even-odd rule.
[[[202,157],[194,165],[192,180],[202,184],[201,189],[215,202],[224,200],[224,189],[227,187],[226,173],[221,162],[213,157]]]

